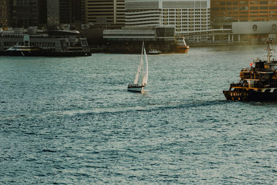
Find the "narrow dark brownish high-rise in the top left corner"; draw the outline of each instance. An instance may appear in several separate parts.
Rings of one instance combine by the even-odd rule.
[[[12,22],[10,0],[0,1],[0,27],[8,27]]]

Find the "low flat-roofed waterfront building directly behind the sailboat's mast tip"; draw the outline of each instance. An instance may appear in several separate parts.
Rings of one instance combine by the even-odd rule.
[[[175,28],[169,26],[133,26],[104,30],[107,50],[111,53],[139,53],[142,42],[145,49],[163,53],[175,51]]]

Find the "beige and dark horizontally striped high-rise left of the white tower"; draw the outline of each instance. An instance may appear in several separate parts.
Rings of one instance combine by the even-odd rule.
[[[125,0],[86,0],[84,7],[86,22],[125,24]]]

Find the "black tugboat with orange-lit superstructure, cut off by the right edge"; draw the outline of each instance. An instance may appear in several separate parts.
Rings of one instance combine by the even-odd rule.
[[[227,100],[274,101],[277,100],[277,61],[271,60],[271,44],[267,40],[267,60],[255,60],[255,67],[240,71],[240,82],[232,83],[229,91],[223,91]]]

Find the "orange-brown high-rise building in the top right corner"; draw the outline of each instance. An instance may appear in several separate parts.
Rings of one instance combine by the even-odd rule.
[[[276,0],[211,0],[215,28],[231,28],[236,21],[277,21]]]

